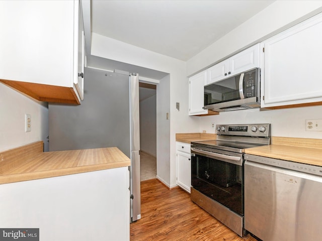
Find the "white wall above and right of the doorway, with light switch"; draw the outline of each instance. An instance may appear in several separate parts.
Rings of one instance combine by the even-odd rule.
[[[199,131],[199,118],[188,115],[186,62],[96,33],[92,34],[91,54],[170,74],[160,80],[156,91],[156,162],[157,178],[169,187],[176,186],[176,133]],[[180,111],[176,102],[181,104]],[[166,120],[167,112],[170,120]]]

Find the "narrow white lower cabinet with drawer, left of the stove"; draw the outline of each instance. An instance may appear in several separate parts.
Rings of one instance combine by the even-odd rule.
[[[191,150],[190,144],[177,142],[177,185],[190,193]]]

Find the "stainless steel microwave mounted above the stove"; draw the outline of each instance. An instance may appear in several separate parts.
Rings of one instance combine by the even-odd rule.
[[[205,85],[204,109],[229,111],[261,107],[261,70],[251,69]]]

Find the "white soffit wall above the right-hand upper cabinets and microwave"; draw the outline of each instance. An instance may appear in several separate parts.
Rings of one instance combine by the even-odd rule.
[[[187,76],[322,12],[322,1],[279,0],[187,61]]]

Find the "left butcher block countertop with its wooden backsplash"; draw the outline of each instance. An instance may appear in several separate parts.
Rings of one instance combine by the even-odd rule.
[[[0,152],[0,184],[131,165],[118,148],[43,152],[43,142]]]

